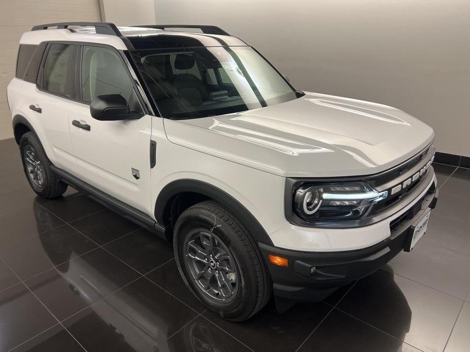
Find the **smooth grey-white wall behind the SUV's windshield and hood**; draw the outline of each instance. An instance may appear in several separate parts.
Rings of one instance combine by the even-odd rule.
[[[295,87],[392,105],[470,156],[468,0],[155,0],[155,16],[221,26]]]

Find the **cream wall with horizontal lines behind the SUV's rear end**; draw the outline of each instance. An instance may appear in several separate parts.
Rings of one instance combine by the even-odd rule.
[[[100,20],[98,0],[0,0],[0,139],[13,137],[6,90],[21,34],[36,24]]]

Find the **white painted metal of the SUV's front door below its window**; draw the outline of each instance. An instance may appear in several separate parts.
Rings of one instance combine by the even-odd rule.
[[[91,117],[87,104],[70,101],[69,109],[68,124],[77,177],[144,213],[150,213],[153,208],[149,164],[152,117],[98,121]],[[90,125],[90,130],[72,126],[73,120]],[[131,168],[139,170],[139,180],[133,177]]]

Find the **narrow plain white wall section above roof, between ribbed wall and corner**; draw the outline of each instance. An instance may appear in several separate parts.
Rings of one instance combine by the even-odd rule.
[[[100,0],[103,21],[118,26],[154,24],[153,0]]]

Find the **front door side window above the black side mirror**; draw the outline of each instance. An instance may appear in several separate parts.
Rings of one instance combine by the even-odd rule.
[[[98,95],[120,94],[132,111],[140,111],[127,68],[114,50],[83,47],[81,88],[85,102],[91,102]]]

